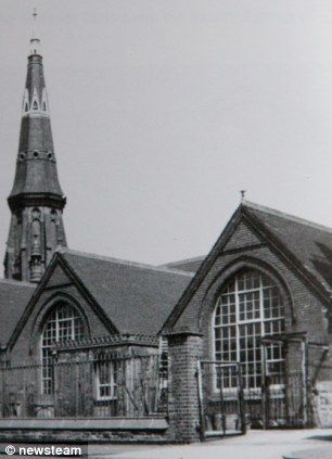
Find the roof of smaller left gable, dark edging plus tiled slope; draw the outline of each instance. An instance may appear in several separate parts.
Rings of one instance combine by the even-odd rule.
[[[58,266],[76,284],[111,334],[156,336],[193,276],[60,247],[36,286],[34,297],[26,299],[13,321],[10,347],[14,346]]]

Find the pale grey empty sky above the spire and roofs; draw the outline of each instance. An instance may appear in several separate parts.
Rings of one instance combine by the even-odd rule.
[[[0,0],[0,256],[31,10],[68,244],[207,253],[240,202],[332,227],[331,0]]]

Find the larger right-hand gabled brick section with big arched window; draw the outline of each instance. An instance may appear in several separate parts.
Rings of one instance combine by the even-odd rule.
[[[243,202],[202,262],[164,333],[170,361],[179,343],[196,354],[193,367],[203,361],[208,432],[217,430],[220,387],[226,418],[237,412],[234,400],[241,403],[232,362],[241,365],[254,424],[331,424],[331,229]],[[170,391],[182,365],[175,356]],[[193,426],[202,406],[186,406]]]

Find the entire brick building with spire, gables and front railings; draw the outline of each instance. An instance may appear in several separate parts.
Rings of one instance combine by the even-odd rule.
[[[332,230],[243,201],[206,257],[154,267],[68,250],[38,46],[0,282],[0,435],[331,425]]]

